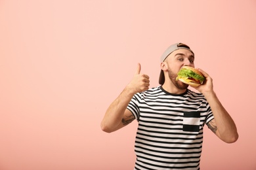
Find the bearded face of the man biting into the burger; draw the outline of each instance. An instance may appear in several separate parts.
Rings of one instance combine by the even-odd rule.
[[[177,81],[177,73],[182,66],[188,65],[194,67],[194,54],[186,49],[179,49],[172,52],[166,59],[167,71],[171,82],[181,90],[188,88],[188,84]]]

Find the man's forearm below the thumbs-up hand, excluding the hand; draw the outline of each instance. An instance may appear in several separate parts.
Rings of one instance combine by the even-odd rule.
[[[135,92],[126,87],[113,101],[110,107],[108,107],[100,125],[103,131],[112,132],[119,128],[118,126],[121,124],[125,109],[134,93]]]

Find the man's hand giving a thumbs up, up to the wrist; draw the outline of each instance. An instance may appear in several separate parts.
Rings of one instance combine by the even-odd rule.
[[[150,86],[150,80],[148,75],[140,74],[140,63],[138,63],[135,75],[131,82],[127,85],[127,88],[132,90],[133,93],[144,92],[148,90]]]

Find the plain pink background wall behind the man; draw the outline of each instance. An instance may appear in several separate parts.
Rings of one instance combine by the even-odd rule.
[[[0,1],[0,169],[133,169],[137,122],[104,133],[137,67],[184,42],[213,78],[240,138],[207,127],[202,169],[256,169],[256,1]],[[237,70],[235,70],[237,69]]]

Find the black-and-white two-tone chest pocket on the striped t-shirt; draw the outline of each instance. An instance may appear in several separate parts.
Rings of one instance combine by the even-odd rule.
[[[183,131],[200,130],[200,112],[183,112]]]

